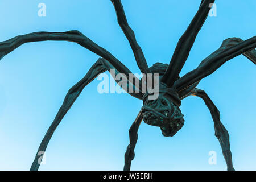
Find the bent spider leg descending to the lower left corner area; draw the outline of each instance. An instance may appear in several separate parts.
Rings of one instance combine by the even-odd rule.
[[[89,69],[88,73],[86,73],[85,77],[82,78],[79,82],[77,82],[76,85],[72,86],[71,89],[69,89],[63,104],[61,105],[55,119],[53,120],[51,126],[47,130],[46,135],[44,135],[44,138],[42,142],[40,143],[40,146],[38,148],[38,152],[36,152],[36,156],[34,159],[34,162],[32,163],[32,166],[30,168],[31,171],[38,170],[40,166],[40,151],[46,151],[47,145],[49,143],[49,140],[51,139],[54,131],[56,130],[57,126],[61,122],[61,120],[64,118],[65,114],[67,114],[68,110],[71,108],[73,103],[76,101],[77,97],[79,97],[82,90],[85,88],[86,85],[88,85],[91,81],[94,80],[100,73],[103,73],[105,71],[110,71],[110,69],[114,68],[112,64],[109,63],[109,61],[100,58],[96,61],[96,63],[93,64],[93,66]],[[116,72],[119,72],[117,69],[115,69]],[[122,71],[122,70],[121,70]],[[122,85],[121,85],[122,86]],[[131,86],[129,81],[127,81],[127,88]],[[142,98],[141,93],[129,93],[131,96],[134,96],[136,98]]]

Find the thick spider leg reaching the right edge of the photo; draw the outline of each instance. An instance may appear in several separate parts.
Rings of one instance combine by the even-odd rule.
[[[256,64],[256,36],[243,41],[239,38],[229,38],[223,41],[221,47],[214,51],[211,55],[205,58],[197,67],[191,72],[188,72],[183,77],[175,82],[176,89],[187,89],[189,86],[200,81],[204,77],[212,74],[226,61],[243,54]]]

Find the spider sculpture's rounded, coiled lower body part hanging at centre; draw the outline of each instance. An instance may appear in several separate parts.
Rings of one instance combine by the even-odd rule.
[[[156,100],[146,100],[142,106],[143,121],[160,127],[164,137],[172,137],[184,125],[183,114],[168,97],[159,96]]]

